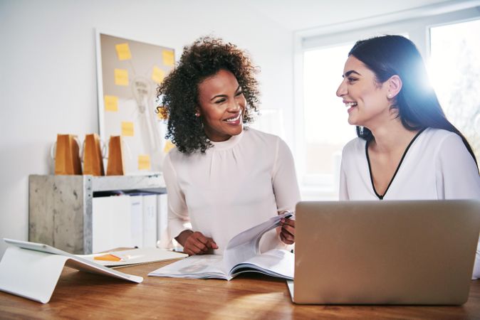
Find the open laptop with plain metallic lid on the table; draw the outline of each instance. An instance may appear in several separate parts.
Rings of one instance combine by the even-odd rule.
[[[297,304],[464,304],[480,201],[318,201],[296,206]]]

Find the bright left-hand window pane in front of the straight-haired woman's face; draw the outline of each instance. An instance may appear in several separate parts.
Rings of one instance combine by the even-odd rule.
[[[335,95],[353,43],[303,55],[303,134],[306,185],[335,186],[343,146],[355,136],[342,99]],[[333,192],[333,191],[332,191]]]

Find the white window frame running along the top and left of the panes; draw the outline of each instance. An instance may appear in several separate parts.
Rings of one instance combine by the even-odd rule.
[[[448,1],[443,4],[424,6],[422,8],[400,11],[395,14],[294,33],[293,110],[295,130],[293,150],[296,158],[298,182],[304,200],[319,198],[333,200],[338,198],[339,181],[335,181],[338,180],[335,174],[306,173],[306,139],[304,138],[303,129],[303,54],[308,50],[355,43],[359,39],[375,35],[407,34],[427,63],[430,56],[430,28],[479,19],[479,5],[480,1]]]

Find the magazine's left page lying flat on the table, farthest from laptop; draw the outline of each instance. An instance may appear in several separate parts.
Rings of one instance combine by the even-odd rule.
[[[222,258],[221,255],[192,255],[152,271],[148,275],[173,278],[231,279],[223,270]]]

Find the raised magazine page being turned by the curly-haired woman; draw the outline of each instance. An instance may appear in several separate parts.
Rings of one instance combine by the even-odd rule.
[[[287,212],[276,215],[264,223],[247,229],[234,238],[231,238],[224,251],[225,270],[231,270],[235,265],[260,255],[259,242],[264,233],[280,225],[282,218],[291,218],[293,213]]]

